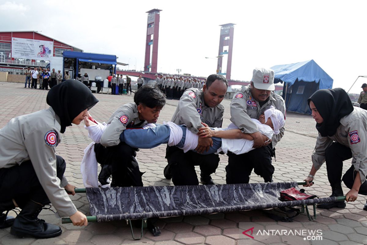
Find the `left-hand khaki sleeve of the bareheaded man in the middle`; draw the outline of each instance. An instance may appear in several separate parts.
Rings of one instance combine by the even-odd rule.
[[[193,91],[186,91],[182,94],[179,104],[179,112],[177,118],[186,125],[186,127],[194,134],[199,133],[203,125],[201,124],[200,114],[196,111],[197,97],[193,98],[189,93],[195,94]]]

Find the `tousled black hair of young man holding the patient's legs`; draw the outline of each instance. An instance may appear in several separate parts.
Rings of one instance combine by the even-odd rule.
[[[166,104],[166,96],[157,86],[144,85],[134,95],[135,104],[143,104],[149,108],[162,108]]]

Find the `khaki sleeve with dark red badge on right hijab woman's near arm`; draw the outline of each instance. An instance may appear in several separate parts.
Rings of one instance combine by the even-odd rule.
[[[363,184],[367,175],[367,132],[361,120],[353,120],[348,126],[348,142],[353,156],[352,164],[354,170],[359,172]]]

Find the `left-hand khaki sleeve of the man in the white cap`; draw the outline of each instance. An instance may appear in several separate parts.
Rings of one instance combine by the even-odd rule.
[[[237,98],[237,94],[242,94],[242,98]],[[252,122],[247,115],[246,97],[243,93],[236,93],[230,102],[230,121],[233,122],[242,133],[252,134],[259,131],[256,123]]]

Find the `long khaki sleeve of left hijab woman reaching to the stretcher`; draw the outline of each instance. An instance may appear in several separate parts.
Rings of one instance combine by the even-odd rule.
[[[36,129],[25,135],[25,147],[32,162],[34,172],[48,199],[60,216],[71,216],[77,209],[57,177],[55,147],[46,144],[48,130]]]

